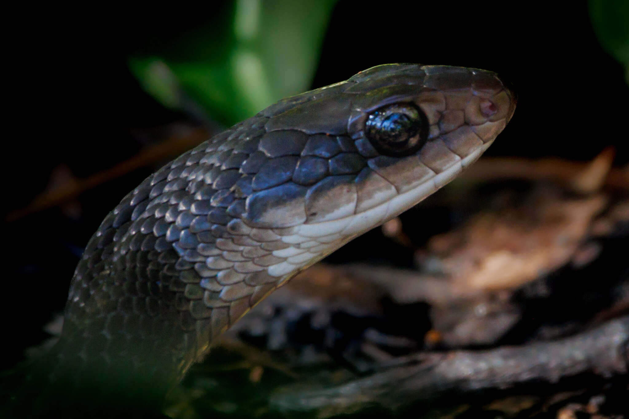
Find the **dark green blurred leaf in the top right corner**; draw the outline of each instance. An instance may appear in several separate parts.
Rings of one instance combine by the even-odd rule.
[[[629,84],[629,1],[589,0],[589,14],[601,46],[625,67]]]

